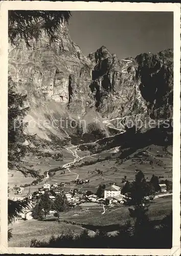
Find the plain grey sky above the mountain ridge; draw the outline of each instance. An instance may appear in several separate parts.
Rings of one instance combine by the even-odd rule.
[[[83,54],[105,46],[119,59],[173,48],[172,12],[72,11],[69,31]]]

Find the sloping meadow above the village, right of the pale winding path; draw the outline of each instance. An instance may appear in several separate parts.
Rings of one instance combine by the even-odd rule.
[[[144,150],[144,148],[143,148]],[[163,157],[157,157],[157,152],[159,152]],[[172,156],[165,155],[161,146],[151,145],[149,150],[149,159],[157,161],[159,164],[153,163],[150,164],[150,161],[145,160],[143,163],[139,162],[137,159],[134,159],[134,155],[130,155],[130,158],[123,163],[118,161],[117,156],[119,153],[115,153],[114,156],[111,155],[111,152],[102,152],[97,154],[96,156],[92,156],[89,158],[89,161],[93,161],[101,158],[105,158],[106,156],[110,156],[110,160],[105,160],[101,162],[97,162],[91,165],[84,165],[82,167],[75,166],[71,168],[73,173],[77,173],[79,175],[79,179],[89,179],[90,182],[87,184],[83,184],[78,186],[81,189],[89,189],[93,192],[96,192],[99,184],[108,184],[110,182],[120,184],[124,176],[127,177],[127,180],[132,181],[135,177],[135,169],[141,169],[145,174],[145,178],[148,180],[154,174],[156,176],[163,176],[164,179],[172,180]],[[88,160],[88,158],[86,158]],[[85,159],[84,159],[85,160]],[[82,161],[80,162],[82,163]],[[77,165],[80,165],[78,163]],[[103,174],[98,174],[96,168],[101,170]],[[61,176],[60,172],[57,172],[53,177],[55,182],[60,182]],[[67,173],[66,173],[67,175]],[[76,175],[74,175],[76,178]]]

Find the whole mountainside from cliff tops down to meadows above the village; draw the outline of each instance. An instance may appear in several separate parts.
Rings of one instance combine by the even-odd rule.
[[[90,188],[95,189],[102,181],[121,182],[124,175],[132,179],[137,167],[149,177],[170,173],[171,155],[161,159],[151,151],[172,145],[171,125],[166,129],[159,120],[170,124],[172,119],[173,50],[119,60],[105,46],[84,56],[65,24],[55,38],[51,42],[43,34],[29,48],[17,39],[9,48],[9,75],[17,91],[28,95],[25,121],[27,132],[36,134],[33,144],[38,151],[24,159],[30,177],[12,176],[10,170],[9,185],[31,183],[31,174],[50,172],[50,182],[70,182],[78,174],[90,178]],[[137,127],[139,122],[143,124]],[[135,157],[140,151],[146,151],[146,160]],[[43,156],[45,152],[49,156]],[[57,153],[63,159],[55,160]],[[103,175],[95,168],[102,168]]]

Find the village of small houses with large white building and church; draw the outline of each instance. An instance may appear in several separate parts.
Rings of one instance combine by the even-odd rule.
[[[111,208],[114,207],[131,205],[130,193],[125,189],[127,186],[127,181],[124,181],[121,184],[121,186],[118,186],[115,183],[109,183],[108,186],[100,184],[98,187],[99,193],[97,190],[97,193],[94,194],[90,190],[81,190],[80,188],[67,189],[66,185],[70,184],[70,182],[67,182],[67,184],[66,182],[53,183],[51,185],[50,183],[48,183],[48,179],[49,174],[47,173],[47,177],[44,179],[44,184],[41,187],[39,187],[37,191],[34,191],[32,194],[30,193],[29,189],[28,195],[23,197],[18,197],[18,195],[21,196],[22,193],[24,193],[25,188],[22,186],[17,189],[15,193],[15,195],[17,196],[14,200],[22,200],[28,198],[31,203],[29,204],[29,207],[25,208],[24,211],[18,216],[18,218],[16,218],[16,222],[18,221],[18,219],[33,219],[33,207],[45,193],[49,195],[49,199],[52,201],[52,203],[55,201],[58,195],[64,195],[66,197],[67,205],[69,205],[70,209],[76,208],[76,206],[80,206],[81,208],[102,207],[102,214],[105,214],[106,212],[104,206],[108,207],[107,209],[110,210]],[[75,180],[74,182],[76,184],[83,184],[90,182],[90,180]],[[172,193],[170,191],[167,191],[167,185],[165,183],[160,183],[159,190],[152,195],[146,196],[144,199],[145,202],[152,203],[156,198],[164,197],[171,194]],[[56,210],[50,210],[50,214],[53,215],[55,213]]]

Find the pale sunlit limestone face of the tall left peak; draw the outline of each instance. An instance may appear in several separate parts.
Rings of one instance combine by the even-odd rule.
[[[29,49],[17,39],[16,47],[9,50],[9,74],[18,90],[28,93],[31,105],[41,100],[72,103],[79,93],[80,73],[83,75],[85,66],[92,65],[64,24],[55,38],[51,43],[44,34],[40,40],[31,41]]]

